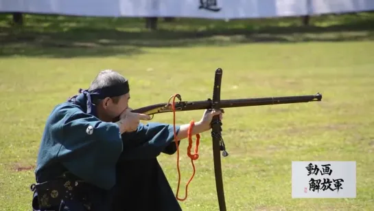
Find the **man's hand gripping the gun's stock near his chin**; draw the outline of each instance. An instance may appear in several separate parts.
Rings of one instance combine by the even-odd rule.
[[[150,120],[150,115],[143,113],[132,113],[132,109],[128,108],[119,115],[119,122],[121,122],[121,133],[136,131],[140,120]]]

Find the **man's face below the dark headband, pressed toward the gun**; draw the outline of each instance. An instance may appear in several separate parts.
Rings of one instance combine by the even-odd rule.
[[[113,99],[106,98],[103,102],[104,110],[110,118],[117,118],[125,109],[128,108],[130,93],[117,97],[117,103]]]

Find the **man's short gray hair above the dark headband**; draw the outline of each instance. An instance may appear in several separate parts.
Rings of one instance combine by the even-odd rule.
[[[104,87],[119,85],[121,83],[126,82],[126,78],[124,76],[121,76],[117,71],[114,71],[113,69],[105,69],[103,71],[100,71],[99,74],[97,74],[95,80],[91,82],[91,85],[89,87],[89,91],[92,91],[93,89],[102,89]]]

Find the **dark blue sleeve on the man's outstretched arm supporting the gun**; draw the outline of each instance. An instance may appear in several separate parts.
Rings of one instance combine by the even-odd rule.
[[[176,126],[176,134],[179,129],[180,126]],[[124,151],[121,153],[120,161],[152,159],[161,153],[171,155],[176,151],[172,124],[156,122],[139,124],[137,131],[122,134],[122,141],[124,142]]]

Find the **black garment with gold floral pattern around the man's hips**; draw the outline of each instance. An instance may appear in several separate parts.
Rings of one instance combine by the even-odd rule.
[[[32,186],[34,211],[102,211],[110,207],[113,189],[104,190],[86,183],[62,165],[36,173],[36,181]]]

